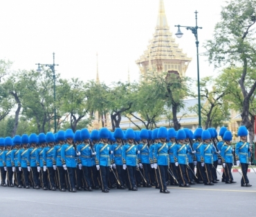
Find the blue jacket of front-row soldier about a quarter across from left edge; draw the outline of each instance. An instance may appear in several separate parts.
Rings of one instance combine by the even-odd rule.
[[[67,167],[76,167],[76,161],[75,161],[75,147],[73,145],[64,144],[62,145],[61,149],[61,156],[62,156],[62,165],[65,165]]]

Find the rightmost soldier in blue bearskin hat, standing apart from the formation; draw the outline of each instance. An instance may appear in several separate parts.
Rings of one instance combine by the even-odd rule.
[[[250,187],[247,169],[250,165],[250,144],[247,142],[248,131],[245,126],[241,126],[238,129],[237,136],[240,136],[240,141],[235,145],[235,154],[237,165],[241,164],[241,172],[243,176],[241,177],[241,187]]]

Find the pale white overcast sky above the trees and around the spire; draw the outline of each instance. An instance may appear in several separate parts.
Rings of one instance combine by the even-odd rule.
[[[197,10],[199,53],[212,39],[224,0],[165,0],[170,31],[174,25],[195,25]],[[0,3],[0,59],[13,61],[12,70],[37,69],[53,63],[62,78],[89,81],[138,81],[135,61],[147,50],[155,30],[159,0],[8,0]],[[187,76],[196,79],[194,34],[181,29],[179,48],[192,57]],[[199,57],[200,76],[216,74],[206,56]]]

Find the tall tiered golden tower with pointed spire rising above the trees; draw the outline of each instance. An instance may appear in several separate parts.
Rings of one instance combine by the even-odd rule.
[[[191,60],[186,54],[183,54],[182,49],[175,43],[167,24],[163,0],[159,0],[158,19],[153,39],[149,41],[144,54],[136,60],[140,69],[140,81],[147,79],[147,76],[162,74],[171,70],[185,76]]]

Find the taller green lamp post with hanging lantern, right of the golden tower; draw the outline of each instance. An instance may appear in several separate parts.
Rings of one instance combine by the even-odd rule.
[[[184,25],[175,25],[175,27],[178,27],[178,31],[176,32],[176,37],[179,39],[183,36],[183,33],[181,32],[181,27],[186,28],[187,30],[191,30],[194,34],[194,37],[196,38],[196,57],[197,57],[197,86],[198,86],[198,106],[199,106],[199,127],[201,127],[201,99],[200,99],[200,78],[199,78],[199,41],[198,41],[198,34],[197,30],[201,29],[201,27],[197,26],[197,11],[194,12],[196,15],[196,26],[184,26]]]

